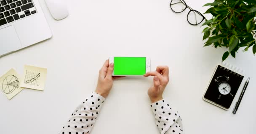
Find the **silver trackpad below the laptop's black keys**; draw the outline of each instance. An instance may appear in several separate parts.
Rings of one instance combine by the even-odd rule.
[[[14,26],[0,29],[0,55],[21,49],[21,43]]]

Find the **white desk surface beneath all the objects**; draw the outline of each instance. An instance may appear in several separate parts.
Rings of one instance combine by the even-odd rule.
[[[237,111],[203,101],[202,96],[225,49],[203,48],[203,27],[173,13],[171,0],[68,0],[70,15],[55,21],[45,5],[53,37],[0,58],[0,74],[24,64],[48,68],[45,90],[24,89],[11,101],[0,94],[0,134],[57,134],[72,111],[96,88],[98,71],[112,55],[146,55],[168,65],[171,81],[164,98],[181,114],[186,134],[255,134],[256,57],[251,49],[226,62],[251,77]],[[212,0],[186,0],[204,13]],[[208,17],[209,18],[209,17]],[[244,82],[243,82],[244,84]],[[115,81],[91,134],[159,134],[147,89],[152,78]],[[242,85],[243,86],[243,85]]]

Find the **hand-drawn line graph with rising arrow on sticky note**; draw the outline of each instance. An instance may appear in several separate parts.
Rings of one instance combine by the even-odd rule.
[[[40,73],[26,71],[25,79],[24,79],[24,84],[38,86],[39,85],[38,84],[39,81],[40,81]]]

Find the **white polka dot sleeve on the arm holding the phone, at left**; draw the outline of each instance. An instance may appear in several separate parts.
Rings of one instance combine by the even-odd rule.
[[[71,114],[59,134],[88,134],[95,124],[105,98],[92,93]]]

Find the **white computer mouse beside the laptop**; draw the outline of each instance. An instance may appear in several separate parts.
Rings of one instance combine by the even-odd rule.
[[[69,15],[67,4],[64,1],[65,0],[45,0],[51,15],[56,20],[62,20]]]

